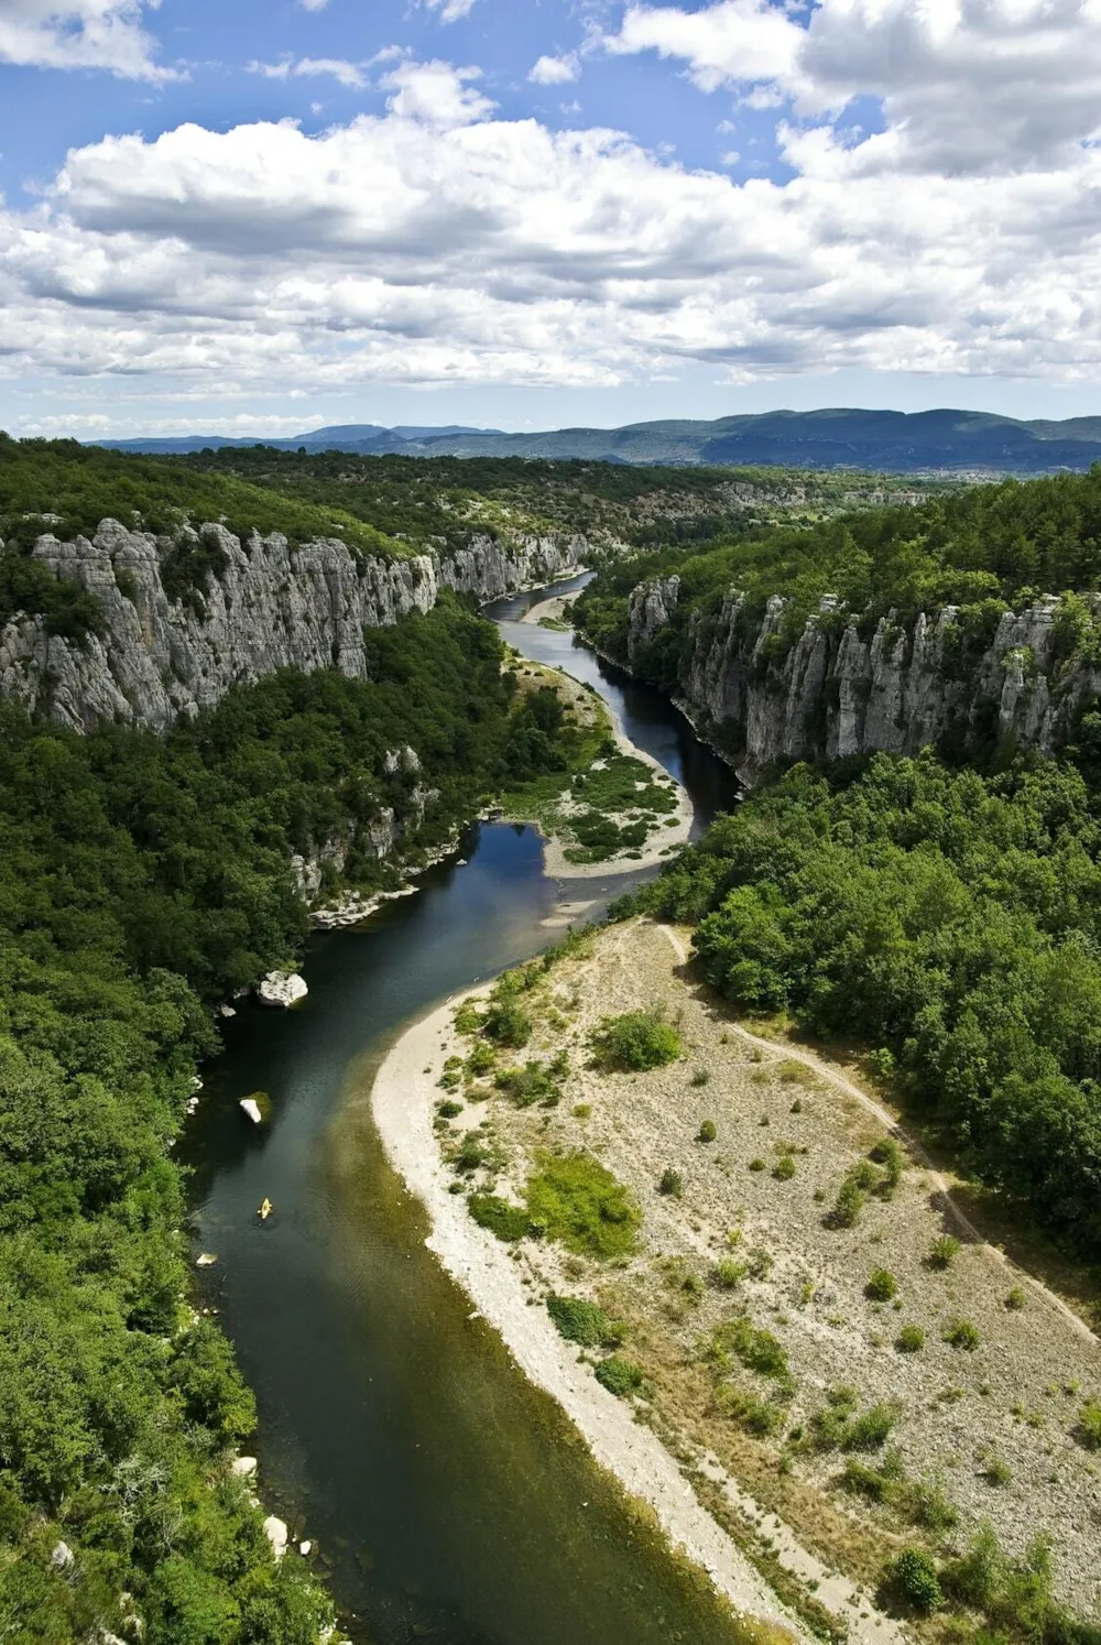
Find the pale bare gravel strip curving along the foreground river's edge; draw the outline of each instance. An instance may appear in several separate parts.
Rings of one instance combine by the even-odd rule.
[[[453,1178],[439,1158],[433,1117],[439,1097],[436,1069],[441,1054],[453,1050],[451,1018],[458,1000],[406,1030],[379,1069],[372,1092],[387,1158],[428,1207],[433,1229],[428,1249],[500,1332],[520,1370],[558,1400],[594,1459],[627,1492],[653,1507],[670,1541],[708,1571],[716,1589],[737,1610],[806,1638],[803,1627],[696,1502],[660,1439],[634,1421],[629,1403],[607,1393],[592,1370],[578,1364],[576,1347],[558,1336],[546,1311],[528,1306],[527,1262],[513,1262],[509,1247],[471,1219],[464,1196],[449,1193]]]

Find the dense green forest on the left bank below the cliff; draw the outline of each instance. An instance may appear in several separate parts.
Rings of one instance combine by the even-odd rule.
[[[291,852],[385,813],[446,837],[479,795],[568,755],[443,600],[372,635],[367,683],[281,674],[166,740],[0,709],[0,1637],[309,1645],[329,1615],[272,1558],[230,1457],[255,1423],[188,1304],[168,1148],[209,1007],[293,957]],[[512,688],[512,689],[510,689]],[[410,744],[421,772],[387,775]],[[408,762],[406,762],[408,763]],[[357,844],[355,844],[357,841]]]

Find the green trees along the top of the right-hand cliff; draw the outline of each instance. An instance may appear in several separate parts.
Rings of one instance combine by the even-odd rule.
[[[688,625],[718,614],[724,595],[746,595],[742,622],[755,632],[772,594],[787,600],[782,646],[790,646],[825,594],[861,615],[871,632],[887,610],[905,620],[959,605],[959,632],[979,642],[997,617],[1038,594],[1088,591],[1101,581],[1101,466],[1088,474],[1006,480],[953,492],[918,507],[849,513],[810,530],[749,530],[701,544],[620,561],[579,597],[583,632],[625,660],[632,587],[647,577],[681,579],[673,622],[634,660],[635,671],[670,688],[686,655]],[[1066,614],[1068,645],[1088,622]]]

